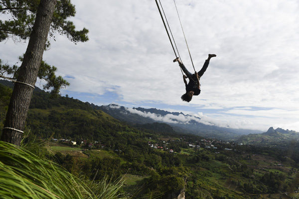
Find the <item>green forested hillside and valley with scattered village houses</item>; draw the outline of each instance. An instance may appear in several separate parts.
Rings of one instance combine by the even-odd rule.
[[[0,125],[11,89],[0,85]],[[296,198],[299,144],[255,146],[179,133],[162,123],[129,126],[88,102],[34,92],[25,143],[74,175],[117,182],[126,198]],[[36,150],[35,153],[40,153]],[[181,198],[182,199],[182,198]]]

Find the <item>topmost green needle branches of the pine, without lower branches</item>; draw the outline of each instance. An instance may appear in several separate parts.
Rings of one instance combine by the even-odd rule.
[[[12,37],[15,41],[26,40],[30,37],[35,21],[39,0],[0,0],[0,14],[10,15],[9,20],[0,20],[0,41]],[[75,6],[70,0],[57,0],[49,35],[65,34],[74,43],[88,40],[88,30],[83,28],[76,31],[68,17],[75,16]]]

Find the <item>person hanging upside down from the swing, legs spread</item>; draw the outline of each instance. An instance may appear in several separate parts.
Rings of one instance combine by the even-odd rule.
[[[190,73],[186,67],[183,65],[183,63],[180,61],[180,59],[177,57],[176,59],[173,60],[173,62],[178,62],[179,66],[181,67],[182,71],[186,74],[183,75],[183,80],[186,86],[186,93],[181,96],[181,99],[183,101],[191,101],[193,96],[198,96],[200,94],[200,84],[199,84],[199,79],[200,77],[204,74],[204,72],[207,70],[210,59],[212,57],[216,57],[214,54],[209,54],[208,59],[204,62],[201,70],[197,73],[195,72],[194,74]],[[186,78],[189,79],[189,83],[187,84]]]

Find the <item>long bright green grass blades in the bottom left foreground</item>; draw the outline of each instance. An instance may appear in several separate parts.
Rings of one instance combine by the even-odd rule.
[[[1,199],[125,199],[121,181],[76,178],[59,165],[0,141]]]

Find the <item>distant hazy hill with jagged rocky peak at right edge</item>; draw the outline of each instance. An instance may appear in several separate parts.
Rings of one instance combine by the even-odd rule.
[[[243,135],[237,139],[236,142],[254,145],[267,145],[294,140],[299,140],[299,132],[288,129],[284,130],[282,128],[274,129],[273,127],[270,127],[267,132],[261,134]]]

